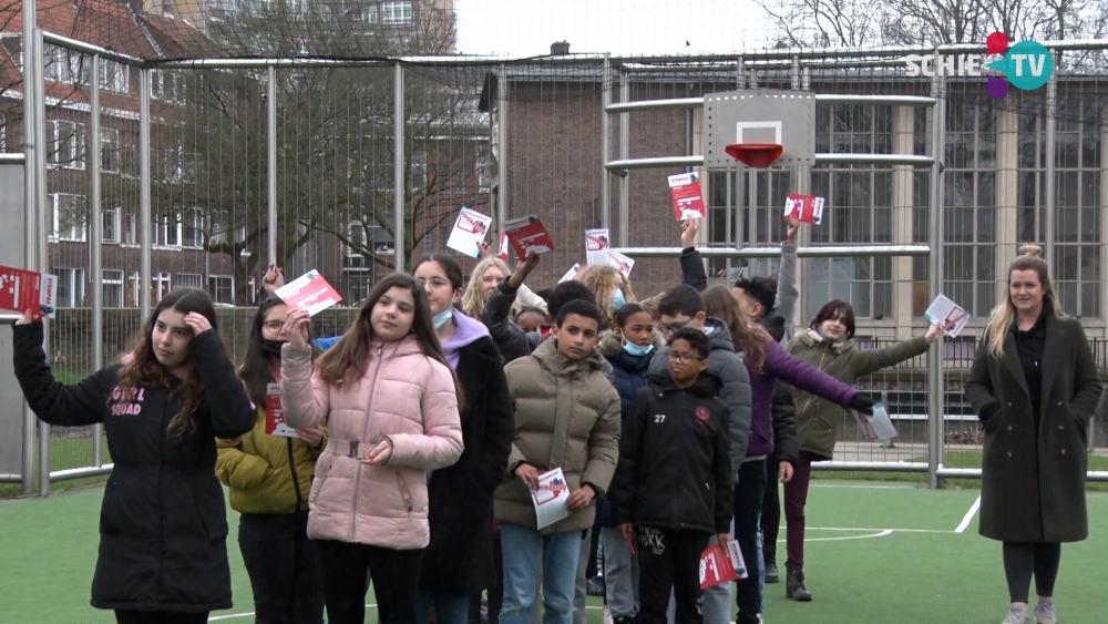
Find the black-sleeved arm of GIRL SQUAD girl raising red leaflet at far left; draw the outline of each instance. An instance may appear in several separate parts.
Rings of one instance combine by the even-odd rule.
[[[16,379],[31,411],[43,422],[61,427],[103,422],[107,398],[119,379],[119,365],[102,368],[73,386],[65,386],[54,379],[47,364],[42,337],[41,321],[12,328]]]

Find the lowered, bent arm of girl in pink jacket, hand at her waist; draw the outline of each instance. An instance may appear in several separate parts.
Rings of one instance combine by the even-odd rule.
[[[420,411],[423,433],[397,433],[389,466],[438,470],[452,466],[462,456],[462,420],[458,415],[454,377],[445,365],[428,360],[431,372],[423,387]]]

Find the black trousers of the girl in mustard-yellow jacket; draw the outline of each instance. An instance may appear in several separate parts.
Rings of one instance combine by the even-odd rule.
[[[324,623],[324,587],[307,511],[244,513],[238,548],[250,575],[256,624]]]

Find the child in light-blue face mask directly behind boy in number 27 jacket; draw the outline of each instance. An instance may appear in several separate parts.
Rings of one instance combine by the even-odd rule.
[[[601,355],[612,364],[614,386],[619,392],[620,423],[632,416],[635,393],[646,386],[646,371],[650,367],[655,348],[665,341],[655,331],[654,318],[638,304],[619,307],[615,327],[601,340]],[[629,624],[638,614],[638,560],[630,544],[616,530],[611,502],[596,503],[599,518],[601,543],[604,546],[605,602],[615,624]]]

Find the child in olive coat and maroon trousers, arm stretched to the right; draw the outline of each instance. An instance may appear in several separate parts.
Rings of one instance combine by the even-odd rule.
[[[854,348],[854,309],[839,299],[828,301],[812,319],[808,331],[789,342],[789,352],[839,381],[853,386],[859,377],[895,366],[927,352],[931,344],[943,337],[943,329],[932,325],[926,335],[884,349],[861,351]],[[820,397],[793,388],[797,403],[797,438],[800,461],[792,479],[784,484],[784,518],[788,546],[786,597],[798,602],[812,600],[804,581],[804,504],[812,478],[812,462],[830,461],[839,437],[842,408]]]

